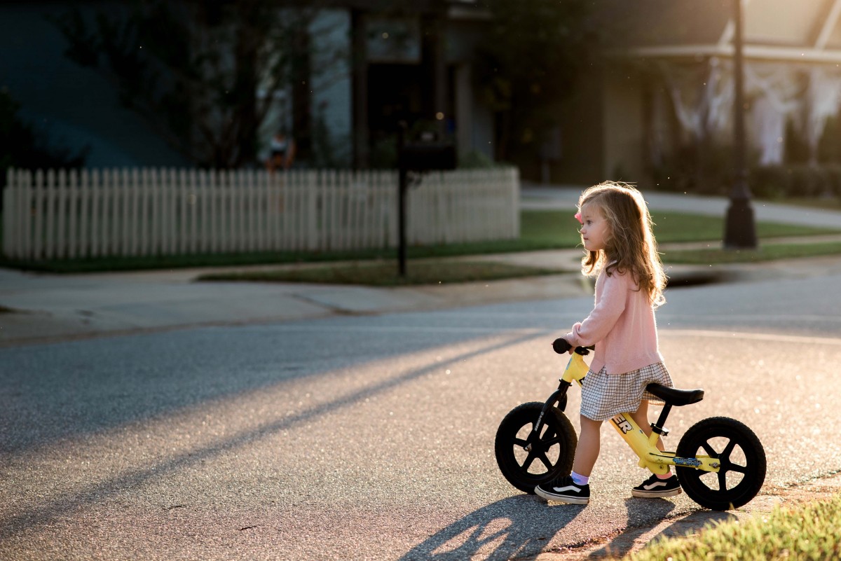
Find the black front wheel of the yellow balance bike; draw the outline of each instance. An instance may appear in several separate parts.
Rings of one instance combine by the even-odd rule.
[[[494,445],[496,463],[505,479],[530,494],[537,485],[569,474],[578,443],[572,423],[556,407],[549,409],[541,434],[532,439],[532,427],[542,409],[543,404],[537,401],[516,406],[500,423]],[[526,452],[529,443],[532,450]]]

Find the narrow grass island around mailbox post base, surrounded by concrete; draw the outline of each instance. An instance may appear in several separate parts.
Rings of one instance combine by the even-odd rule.
[[[406,264],[400,276],[394,261],[344,266],[307,267],[294,270],[264,270],[202,275],[201,281],[283,281],[367,286],[441,285],[458,282],[499,281],[522,276],[555,275],[557,270],[507,265],[505,263],[424,261]]]

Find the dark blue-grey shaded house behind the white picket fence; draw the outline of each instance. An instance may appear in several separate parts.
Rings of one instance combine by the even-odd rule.
[[[67,149],[89,146],[91,167],[191,165],[120,105],[103,76],[65,57],[65,41],[45,17],[74,5],[87,13],[114,7],[0,2],[0,87],[22,104],[21,116]],[[309,52],[296,53],[305,57],[310,80],[273,95],[261,159],[272,134],[287,128],[301,145],[300,165],[388,165],[401,119],[437,123],[461,154],[492,157],[493,115],[471,79],[477,29],[487,16],[474,0],[407,5],[397,16],[383,15],[378,0],[325,3],[309,26]]]

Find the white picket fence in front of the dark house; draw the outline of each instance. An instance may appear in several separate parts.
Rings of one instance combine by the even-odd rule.
[[[8,170],[17,260],[327,251],[398,244],[394,171]],[[409,244],[520,235],[513,168],[433,172],[409,190]]]

